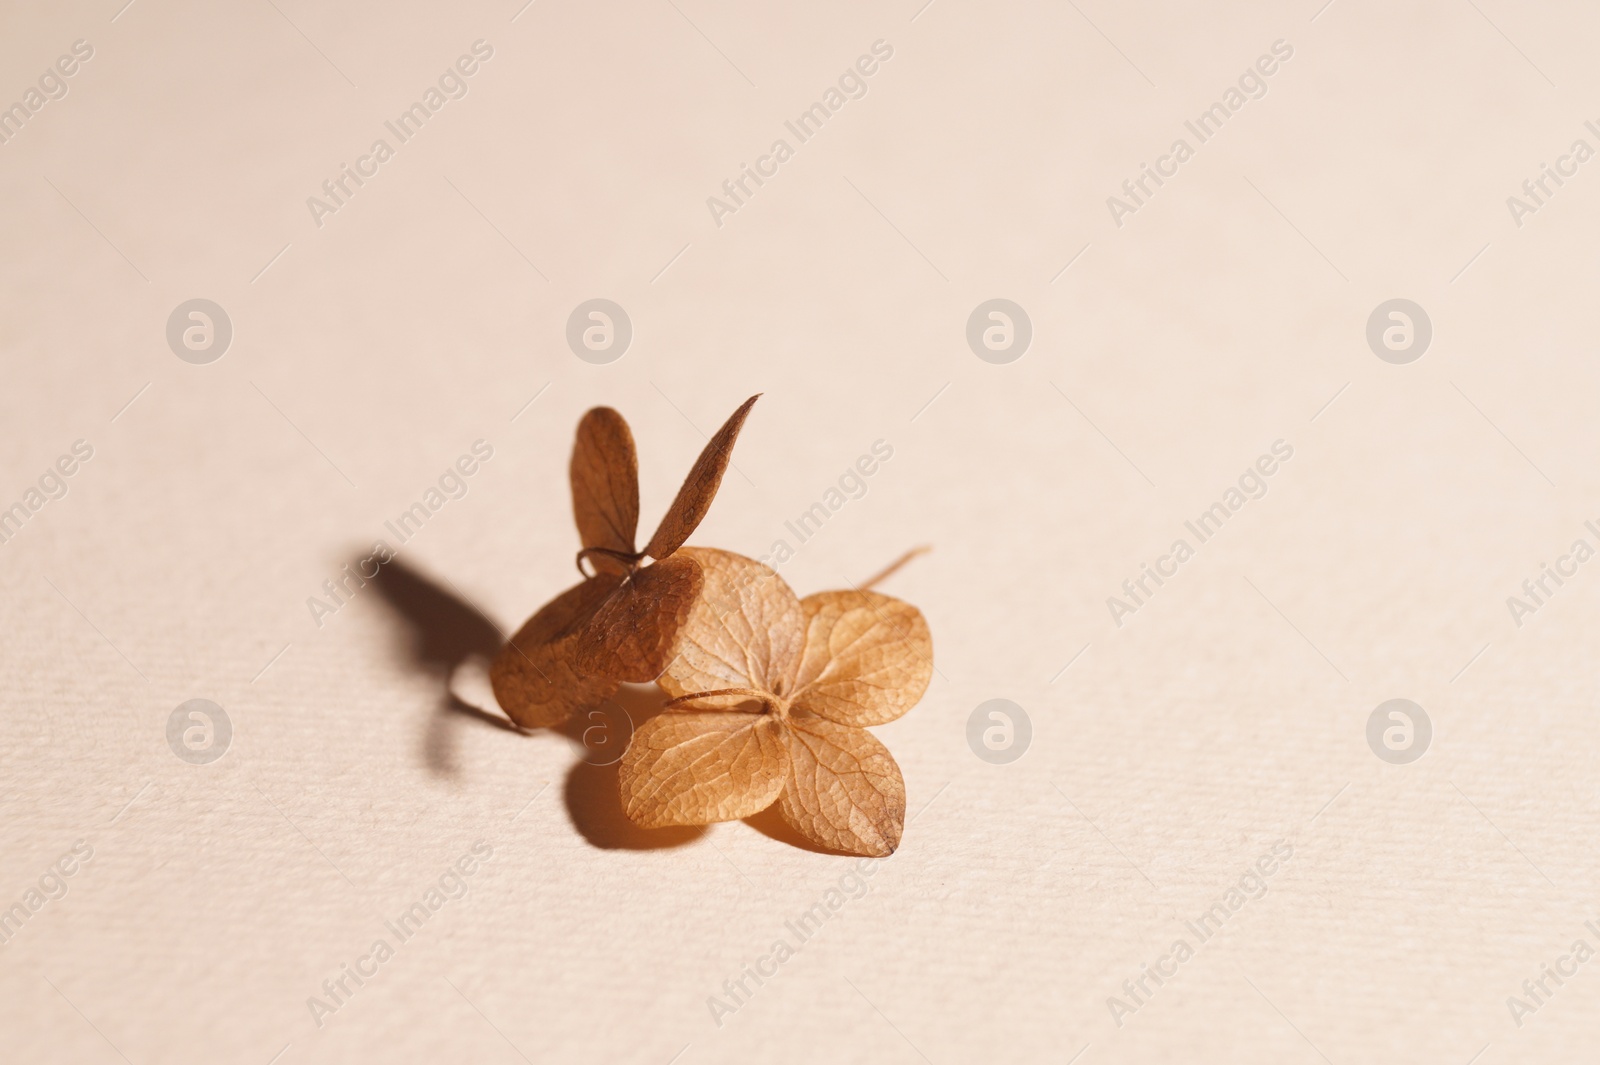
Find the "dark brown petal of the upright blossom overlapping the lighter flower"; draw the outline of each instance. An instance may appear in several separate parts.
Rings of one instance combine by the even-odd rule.
[[[701,568],[693,558],[662,558],[635,569],[578,638],[578,667],[635,684],[656,680],[677,652],[678,632],[699,590]]]

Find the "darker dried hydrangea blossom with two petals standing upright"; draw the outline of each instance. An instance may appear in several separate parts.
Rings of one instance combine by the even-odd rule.
[[[490,668],[494,697],[523,728],[554,726],[666,668],[701,588],[699,564],[677,555],[710,509],[733,443],[758,397],[746,400],[701,451],[656,534],[637,550],[638,457],[621,414],[597,406],[578,424],[570,467],[584,579],[517,630]],[[645,558],[653,560],[645,564]]]

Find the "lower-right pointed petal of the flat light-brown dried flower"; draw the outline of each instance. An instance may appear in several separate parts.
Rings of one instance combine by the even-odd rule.
[[[784,732],[789,784],[778,812],[811,843],[846,854],[894,854],[906,828],[906,782],[866,729],[795,715]]]

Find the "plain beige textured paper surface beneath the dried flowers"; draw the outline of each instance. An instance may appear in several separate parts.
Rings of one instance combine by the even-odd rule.
[[[1600,947],[1600,563],[1506,606],[1600,518],[1600,163],[1506,206],[1600,147],[1592,10],[118,3],[0,34],[5,101],[94,48],[0,146],[0,502],[94,448],[0,545],[0,902],[93,846],[0,947],[8,1057],[1594,1057],[1600,961],[1520,1028],[1506,1004]],[[480,38],[469,94],[315,225]],[[867,96],[717,227],[706,198],[880,38]],[[1106,198],[1280,38],[1266,98],[1118,229]],[[635,329],[606,366],[563,341],[597,296]],[[963,337],[997,296],[1035,329],[1000,366]],[[192,297],[234,323],[211,365],[165,341]],[[1365,341],[1392,297],[1434,323],[1405,366]],[[474,700],[477,609],[507,630],[574,579],[587,406],[632,421],[650,525],[757,390],[696,542],[765,553],[888,441],[784,574],[934,544],[886,590],[938,676],[878,729],[902,849],[718,1028],[707,996],[848,860],[744,824],[645,848],[579,742],[446,684]],[[466,499],[318,628],[307,596],[478,438]],[[1270,493],[1114,625],[1278,438]],[[234,724],[208,766],[165,739],[195,697]],[[995,697],[1034,728],[1006,766],[965,737]],[[1394,697],[1434,723],[1408,766],[1365,740]],[[477,840],[470,894],[318,1028],[306,999]],[[1277,840],[1269,892],[1115,1025]]]

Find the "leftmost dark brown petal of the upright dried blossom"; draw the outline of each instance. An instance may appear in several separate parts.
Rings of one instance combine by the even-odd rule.
[[[566,588],[501,648],[490,683],[506,716],[525,729],[546,728],[616,692],[614,680],[578,670],[573,643],[618,584],[614,574],[600,574]]]

